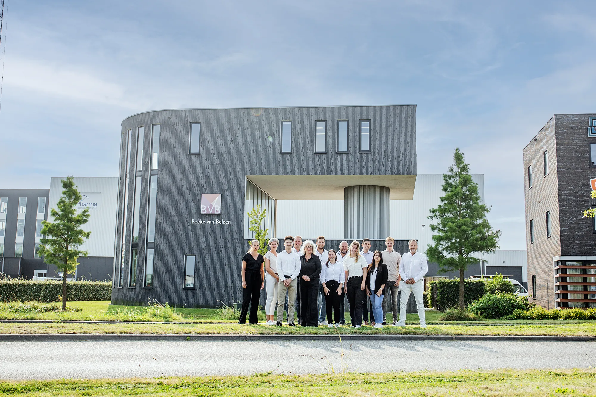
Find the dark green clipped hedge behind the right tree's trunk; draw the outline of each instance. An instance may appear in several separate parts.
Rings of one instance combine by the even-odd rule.
[[[460,305],[460,280],[436,280],[430,282],[428,291],[430,306],[440,311]],[[483,280],[464,280],[464,303],[470,305],[474,300],[485,294]]]

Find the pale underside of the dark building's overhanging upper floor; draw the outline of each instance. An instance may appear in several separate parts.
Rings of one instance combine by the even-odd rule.
[[[385,186],[390,200],[412,200],[416,175],[247,175],[276,200],[343,200],[343,189],[355,185]]]

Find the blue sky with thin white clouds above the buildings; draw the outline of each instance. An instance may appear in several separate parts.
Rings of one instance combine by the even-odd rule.
[[[523,147],[552,114],[596,112],[593,1],[10,0],[7,14],[3,188],[117,175],[120,123],[140,111],[417,104],[418,173],[460,147],[501,248],[525,249]]]

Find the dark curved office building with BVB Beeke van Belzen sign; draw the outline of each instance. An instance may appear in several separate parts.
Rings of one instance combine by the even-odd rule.
[[[276,235],[276,200],[344,200],[346,239],[386,237],[390,199],[414,192],[415,111],[222,108],[128,117],[112,301],[240,300],[241,258],[253,237],[246,213],[266,209],[265,227]]]

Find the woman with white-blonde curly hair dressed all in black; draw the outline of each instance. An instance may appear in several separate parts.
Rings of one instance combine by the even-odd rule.
[[[315,243],[306,240],[303,244],[304,255],[300,256],[300,325],[318,327],[319,315],[317,299],[319,293],[319,274],[321,259],[314,255]]]

